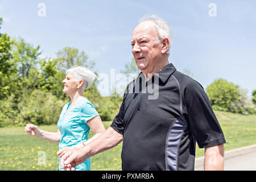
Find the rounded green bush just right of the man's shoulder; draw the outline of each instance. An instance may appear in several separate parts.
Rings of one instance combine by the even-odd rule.
[[[238,100],[237,85],[222,78],[215,80],[207,87],[207,95],[213,109],[230,111],[231,102]]]

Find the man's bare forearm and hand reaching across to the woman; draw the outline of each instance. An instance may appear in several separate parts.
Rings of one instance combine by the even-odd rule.
[[[113,148],[118,143],[122,142],[123,135],[119,134],[112,127],[109,127],[104,133],[92,142],[86,144],[85,147],[79,149],[68,150],[60,160],[60,165],[64,169],[75,170],[75,167],[86,159]]]

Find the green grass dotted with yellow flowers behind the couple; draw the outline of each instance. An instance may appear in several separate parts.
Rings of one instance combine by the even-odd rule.
[[[256,115],[241,115],[215,111],[226,138],[225,150],[255,144]],[[104,122],[107,128],[112,122]],[[40,126],[46,131],[57,131],[56,125]],[[93,133],[89,134],[89,138]],[[91,170],[121,170],[122,143],[92,157]],[[46,154],[46,164],[40,162],[40,151]],[[24,127],[0,128],[0,170],[57,170],[57,143],[28,136]],[[204,148],[196,149],[196,157],[204,155]],[[41,164],[40,164],[41,163]]]

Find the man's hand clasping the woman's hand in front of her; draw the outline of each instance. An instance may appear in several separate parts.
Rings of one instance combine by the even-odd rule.
[[[61,156],[60,159],[60,166],[65,171],[75,171],[75,167],[88,159],[86,156],[86,152],[84,148],[73,148],[70,150],[65,150],[64,154]]]

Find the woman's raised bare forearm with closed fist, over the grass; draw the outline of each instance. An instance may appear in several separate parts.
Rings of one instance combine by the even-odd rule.
[[[60,131],[57,132],[48,132],[44,130],[40,130],[38,126],[33,124],[27,124],[25,127],[25,132],[27,135],[31,135],[33,137],[42,138],[47,140],[48,142],[57,143],[60,142]]]

